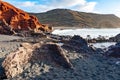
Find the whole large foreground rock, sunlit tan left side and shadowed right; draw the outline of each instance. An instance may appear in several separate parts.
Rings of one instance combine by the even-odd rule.
[[[30,44],[23,43],[15,52],[7,55],[2,63],[7,78],[13,78],[24,71],[28,62],[50,61],[63,66],[72,68],[72,64],[67,58],[63,49],[56,44]]]

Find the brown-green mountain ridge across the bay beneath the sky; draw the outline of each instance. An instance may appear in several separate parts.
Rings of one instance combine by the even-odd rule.
[[[69,9],[54,9],[45,13],[30,13],[41,23],[53,27],[120,28],[120,18],[113,14],[95,14]]]

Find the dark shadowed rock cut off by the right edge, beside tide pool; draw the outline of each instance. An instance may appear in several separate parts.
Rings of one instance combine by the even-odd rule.
[[[107,56],[111,57],[120,57],[120,42],[116,43],[114,46],[110,46],[108,50],[105,52]]]

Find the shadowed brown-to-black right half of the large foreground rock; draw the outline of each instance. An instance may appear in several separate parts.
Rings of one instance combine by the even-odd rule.
[[[54,66],[62,66],[64,68],[72,69],[73,65],[66,55],[67,53],[61,48],[61,46],[54,43],[48,43],[41,45],[41,47],[36,48],[33,51],[31,61],[33,61],[33,63],[40,61],[50,65],[54,64]]]

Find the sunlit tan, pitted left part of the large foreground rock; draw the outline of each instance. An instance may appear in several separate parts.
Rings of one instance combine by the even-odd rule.
[[[11,78],[23,72],[23,67],[29,61],[33,47],[28,44],[22,44],[15,52],[10,53],[2,63],[7,78]]]

